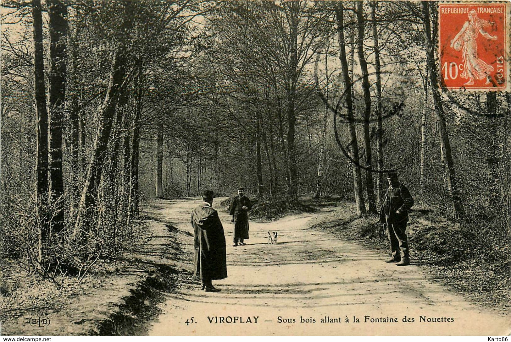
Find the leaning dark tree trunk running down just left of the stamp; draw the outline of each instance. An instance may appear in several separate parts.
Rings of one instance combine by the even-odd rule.
[[[436,118],[438,120],[438,128],[440,134],[440,148],[444,152],[445,160],[446,160],[446,180],[447,180],[447,189],[449,191],[449,196],[452,200],[453,205],[453,214],[455,217],[462,217],[464,215],[463,204],[459,199],[458,188],[456,184],[456,175],[454,162],[452,158],[451,152],[451,144],[449,141],[449,134],[447,132],[446,119],[444,114],[444,107],[442,103],[442,98],[440,97],[440,92],[437,88],[438,86],[438,76],[436,74],[436,64],[435,64],[435,56],[434,49],[435,44],[432,39],[431,32],[431,22],[430,22],[430,10],[429,10],[429,2],[422,1],[422,10],[424,15],[424,41],[426,45],[426,57],[428,63],[428,71],[429,78],[431,84],[431,91],[433,92],[433,102],[435,104],[435,112]]]

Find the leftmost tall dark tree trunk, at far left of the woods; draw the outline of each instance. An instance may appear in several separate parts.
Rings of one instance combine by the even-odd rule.
[[[32,1],[34,28],[34,80],[36,104],[36,217],[38,232],[38,262],[42,262],[42,245],[48,236],[48,111],[46,108],[46,87],[44,85],[44,56],[42,46],[41,1]]]

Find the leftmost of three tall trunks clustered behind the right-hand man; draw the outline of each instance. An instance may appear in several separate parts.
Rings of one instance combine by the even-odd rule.
[[[357,142],[357,131],[355,127],[355,118],[353,113],[353,97],[352,97],[352,85],[351,78],[348,71],[348,62],[346,59],[346,47],[344,39],[344,8],[342,3],[338,3],[336,11],[337,18],[337,34],[339,35],[339,59],[342,66],[342,79],[344,82],[344,88],[346,89],[346,107],[348,117],[348,130],[351,137],[350,149],[348,150],[353,160],[359,162],[358,155],[358,142]],[[355,163],[352,163],[353,172],[353,188],[355,191],[355,203],[357,215],[366,212],[364,193],[362,188],[362,176],[360,174],[360,167]]]

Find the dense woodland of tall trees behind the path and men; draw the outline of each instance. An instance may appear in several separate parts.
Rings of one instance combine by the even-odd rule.
[[[363,215],[397,169],[507,260],[509,94],[442,88],[437,26],[429,1],[3,1],[3,256],[80,279],[144,201],[244,186]]]

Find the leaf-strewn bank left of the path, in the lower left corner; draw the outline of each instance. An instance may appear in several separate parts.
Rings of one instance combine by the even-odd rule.
[[[61,286],[2,263],[3,335],[140,335],[157,315],[160,290],[169,290],[181,271],[184,232],[144,217],[139,238],[116,259],[98,260],[81,282],[60,277]],[[30,317],[48,317],[33,326]]]

